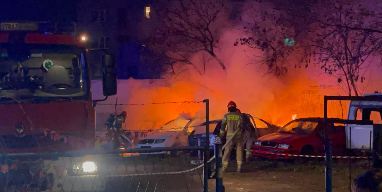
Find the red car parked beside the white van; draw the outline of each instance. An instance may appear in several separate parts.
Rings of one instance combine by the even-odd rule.
[[[346,149],[345,126],[331,126],[329,138],[333,153]],[[324,118],[299,118],[254,142],[252,153],[258,157],[290,159],[290,155],[324,154]]]

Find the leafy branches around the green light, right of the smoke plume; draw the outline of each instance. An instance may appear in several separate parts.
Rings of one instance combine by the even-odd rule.
[[[257,10],[257,7],[254,5],[246,10],[242,20],[246,37],[236,39],[234,45],[248,46],[254,64],[265,64],[267,73],[285,74],[289,56],[298,50],[295,31],[282,11],[272,7]]]

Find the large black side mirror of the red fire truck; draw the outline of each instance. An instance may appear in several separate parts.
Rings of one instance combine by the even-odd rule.
[[[104,96],[117,94],[117,75],[115,73],[115,62],[113,56],[104,54],[102,56],[102,88]]]

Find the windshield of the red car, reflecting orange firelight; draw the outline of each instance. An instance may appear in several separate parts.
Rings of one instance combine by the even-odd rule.
[[[293,133],[293,134],[311,134],[317,127],[318,122],[295,121],[286,124],[278,132]]]

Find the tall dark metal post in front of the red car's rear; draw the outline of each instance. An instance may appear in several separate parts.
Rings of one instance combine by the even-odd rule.
[[[324,96],[324,132],[325,132],[325,192],[332,192],[332,141],[329,140],[329,126],[326,125],[328,118],[328,100]]]

